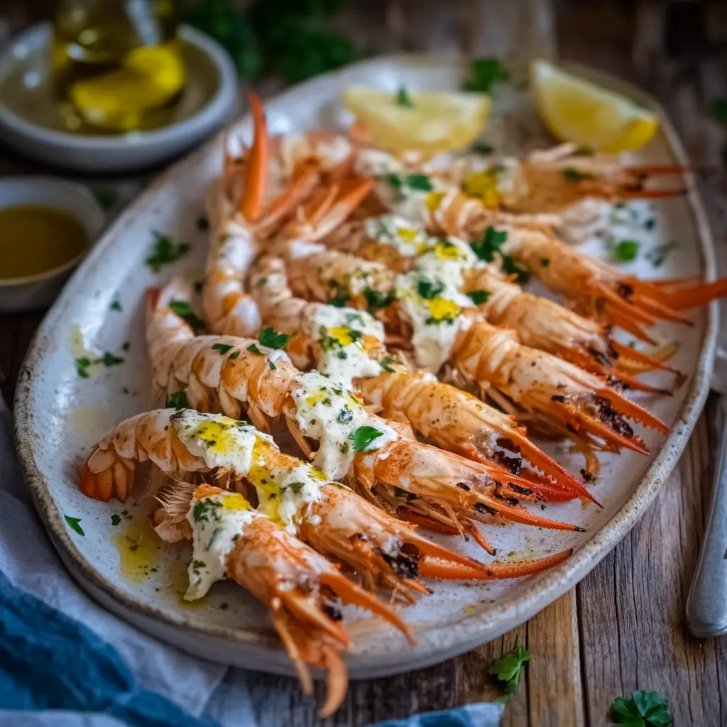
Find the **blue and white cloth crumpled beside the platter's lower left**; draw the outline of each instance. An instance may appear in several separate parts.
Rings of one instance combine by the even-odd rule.
[[[0,398],[0,727],[267,727],[246,672],[184,654],[97,606],[33,509]],[[226,676],[226,678],[225,678]],[[470,704],[378,727],[496,727]]]

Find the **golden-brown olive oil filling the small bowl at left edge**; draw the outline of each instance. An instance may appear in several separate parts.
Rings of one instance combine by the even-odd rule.
[[[0,209],[0,284],[54,275],[88,246],[84,225],[62,209],[35,204]]]

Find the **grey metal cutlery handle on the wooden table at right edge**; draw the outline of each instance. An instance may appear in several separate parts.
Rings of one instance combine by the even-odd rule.
[[[727,633],[727,427],[720,422],[720,451],[702,553],[686,601],[686,622],[699,638]]]

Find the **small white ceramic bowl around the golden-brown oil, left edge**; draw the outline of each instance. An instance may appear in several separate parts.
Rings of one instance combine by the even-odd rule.
[[[49,305],[73,268],[86,257],[103,229],[103,210],[84,185],[50,177],[7,177],[0,180],[0,209],[23,204],[55,207],[72,214],[86,230],[83,252],[57,268],[27,278],[0,278],[0,313],[33,310]]]

